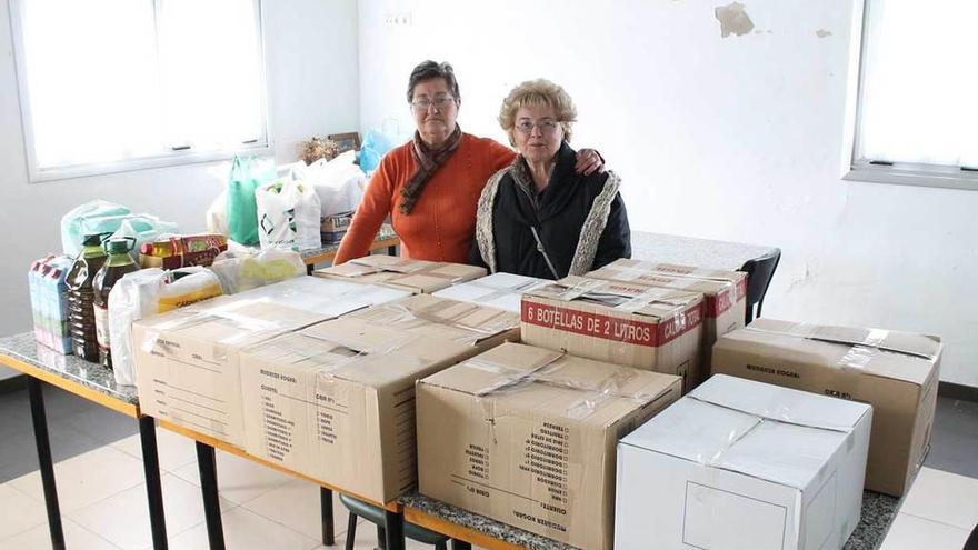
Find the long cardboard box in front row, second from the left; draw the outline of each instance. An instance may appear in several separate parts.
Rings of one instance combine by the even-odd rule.
[[[416,484],[415,381],[519,337],[519,318],[419,294],[241,354],[246,450],[373,502]]]

